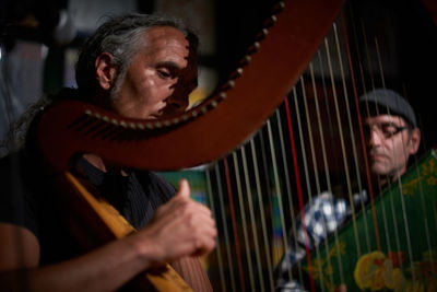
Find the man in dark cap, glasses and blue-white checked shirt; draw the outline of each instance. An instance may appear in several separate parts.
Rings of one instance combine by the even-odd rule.
[[[421,131],[411,105],[397,92],[377,89],[359,97],[359,109],[371,184],[382,190],[408,168],[411,155],[421,143]],[[367,202],[367,191],[353,195],[355,207]],[[305,229],[300,217],[296,220],[295,238],[275,268],[276,291],[305,291],[296,279],[290,279],[288,271],[311,250],[351,218],[349,200],[336,198],[329,191],[315,196],[305,206]],[[307,240],[309,237],[309,240]],[[342,287],[345,291],[345,288]]]

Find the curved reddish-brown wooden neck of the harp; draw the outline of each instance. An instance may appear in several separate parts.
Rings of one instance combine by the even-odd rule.
[[[95,153],[126,166],[157,171],[217,160],[247,139],[281,104],[342,3],[281,2],[280,12],[261,33],[264,39],[256,42],[251,55],[246,56],[249,65],[236,70],[243,78],[229,81],[215,96],[172,120],[121,118],[81,102],[54,105],[38,126],[43,153],[58,171],[67,170],[75,153]],[[246,90],[255,85],[257,91],[248,96]]]

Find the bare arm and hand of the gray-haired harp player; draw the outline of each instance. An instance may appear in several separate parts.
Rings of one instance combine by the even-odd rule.
[[[187,182],[143,230],[45,267],[38,266],[39,243],[33,233],[0,223],[0,285],[7,291],[114,291],[147,268],[211,252],[215,236],[211,211],[189,198]],[[17,246],[25,252],[10,256]]]

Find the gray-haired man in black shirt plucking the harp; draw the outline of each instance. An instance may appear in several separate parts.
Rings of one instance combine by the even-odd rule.
[[[180,113],[197,86],[197,36],[181,22],[155,15],[110,17],[84,44],[76,65],[78,89],[51,100],[79,100],[128,118]],[[42,113],[36,113],[40,116]],[[85,153],[72,173],[104,194],[139,232],[80,254],[62,225],[50,182],[35,163],[35,122],[19,151],[1,161],[0,290],[115,291],[141,271],[189,258],[194,290],[211,290],[198,256],[215,246],[211,212],[152,172],[113,165]],[[16,172],[14,171],[16,170]],[[201,223],[199,223],[201,222]]]

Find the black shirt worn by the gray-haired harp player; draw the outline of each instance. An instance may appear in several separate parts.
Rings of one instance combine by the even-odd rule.
[[[83,253],[66,224],[64,210],[58,206],[61,194],[50,179],[35,171],[31,161],[24,151],[0,160],[0,222],[24,226],[35,234],[40,245],[40,265]],[[175,194],[175,188],[153,172],[131,170],[128,176],[121,176],[104,173],[84,159],[79,165],[90,183],[135,229],[144,226]]]

